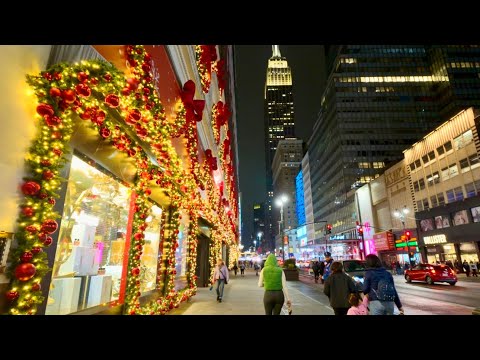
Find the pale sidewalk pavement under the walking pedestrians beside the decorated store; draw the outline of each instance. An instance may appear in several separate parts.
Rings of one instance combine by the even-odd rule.
[[[230,272],[230,281],[225,285],[223,299],[217,302],[216,285],[210,291],[198,288],[197,294],[168,315],[264,315],[264,288],[258,287],[255,270],[246,269],[245,276]],[[292,315],[333,315],[323,288],[312,287],[302,281],[288,281],[287,288],[292,300]],[[287,315],[286,305],[282,315]]]

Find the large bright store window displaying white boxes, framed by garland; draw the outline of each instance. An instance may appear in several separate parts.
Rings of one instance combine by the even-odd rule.
[[[70,314],[120,296],[131,190],[73,156],[46,314]]]

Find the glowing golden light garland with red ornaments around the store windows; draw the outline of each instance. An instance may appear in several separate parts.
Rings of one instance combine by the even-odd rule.
[[[11,314],[35,314],[37,306],[44,301],[39,292],[40,282],[50,269],[42,248],[51,244],[50,234],[58,227],[54,219],[59,214],[53,211],[53,205],[62,184],[59,172],[66,163],[64,154],[69,151],[74,114],[87,121],[105,141],[134,158],[137,164],[138,180],[133,187],[136,195],[135,213],[125,292],[127,314],[165,314],[195,295],[199,213],[208,214],[208,218],[219,224],[219,230],[215,231],[214,236],[216,256],[222,238],[227,239],[230,246],[235,245],[235,234],[225,225],[228,223],[227,216],[224,212],[217,214],[215,210],[219,203],[216,186],[212,188],[217,193],[209,195],[209,199],[214,202],[208,204],[204,204],[196,188],[196,185],[206,183],[204,177],[209,179],[209,184],[213,184],[211,174],[200,175],[196,123],[190,122],[190,126],[187,126],[188,114],[184,104],[178,104],[175,121],[167,121],[152,82],[150,55],[142,46],[132,45],[126,47],[126,55],[131,67],[127,77],[111,64],[102,61],[57,64],[40,76],[27,77],[39,103],[36,120],[40,131],[26,156],[28,175],[22,185],[25,197],[21,201],[18,217],[18,246],[10,253],[8,274],[13,280],[7,298]],[[125,125],[119,126],[119,120]],[[149,145],[161,168],[150,162],[142,145],[128,136],[123,130],[124,126],[130,127],[142,142]],[[182,129],[186,130],[191,161],[187,173],[182,170],[180,158],[171,144],[171,137],[179,136]],[[140,306],[138,275],[145,244],[144,232],[148,227],[145,220],[150,212],[148,197],[151,194],[151,182],[164,188],[171,198],[172,216],[168,222],[162,222],[161,241],[166,260],[158,270],[160,279],[165,276],[166,287],[164,297]],[[188,286],[184,290],[175,291],[175,249],[178,246],[180,211],[186,211],[190,217],[186,241],[189,249]],[[118,301],[114,302],[116,304]]]

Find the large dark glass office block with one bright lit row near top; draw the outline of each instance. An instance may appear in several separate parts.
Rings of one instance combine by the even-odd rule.
[[[309,140],[315,221],[357,238],[355,189],[468,106],[480,105],[480,47],[332,46]]]

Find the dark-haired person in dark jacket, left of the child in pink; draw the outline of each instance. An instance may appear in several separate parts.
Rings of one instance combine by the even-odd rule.
[[[343,272],[341,262],[334,261],[330,270],[331,274],[325,280],[323,292],[330,299],[330,306],[335,315],[347,315],[350,308],[348,297],[356,291],[355,284],[352,278]]]

